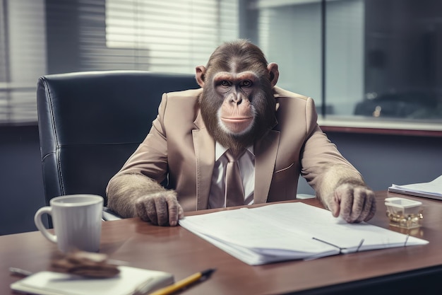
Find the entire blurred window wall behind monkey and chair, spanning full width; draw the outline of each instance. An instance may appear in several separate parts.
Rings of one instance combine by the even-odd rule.
[[[0,124],[37,122],[44,74],[193,73],[246,37],[323,117],[442,129],[441,19],[440,0],[0,0]]]

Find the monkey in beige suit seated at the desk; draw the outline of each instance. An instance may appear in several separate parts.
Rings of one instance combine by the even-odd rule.
[[[196,66],[200,88],[163,94],[150,132],[109,180],[108,207],[160,226],[224,207],[218,154],[246,150],[239,166],[251,167],[241,171],[254,180],[244,188],[250,204],[295,199],[302,175],[333,216],[371,219],[374,192],[318,127],[313,99],[276,86],[278,78],[277,64],[249,40],[222,43]]]

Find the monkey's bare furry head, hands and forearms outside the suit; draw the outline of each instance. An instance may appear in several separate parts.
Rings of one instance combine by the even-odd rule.
[[[196,67],[196,81],[203,88],[198,101],[210,136],[234,151],[253,146],[277,123],[273,87],[278,76],[277,64],[268,64],[251,42],[237,40],[217,47],[206,66]],[[326,167],[321,178],[323,185],[316,190],[316,197],[333,216],[342,216],[347,222],[374,216],[374,192],[354,170],[334,165]],[[107,197],[108,207],[121,216],[139,216],[155,225],[176,226],[184,216],[175,190],[167,190],[140,173],[112,178]]]

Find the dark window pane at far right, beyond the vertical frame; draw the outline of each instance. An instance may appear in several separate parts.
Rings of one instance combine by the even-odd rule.
[[[365,87],[355,114],[442,119],[442,2],[371,0],[364,8]]]

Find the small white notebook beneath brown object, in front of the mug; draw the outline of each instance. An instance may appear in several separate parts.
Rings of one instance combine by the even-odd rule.
[[[145,294],[174,283],[169,272],[120,266],[120,273],[107,279],[92,279],[61,272],[37,272],[11,284],[11,289],[38,295],[131,295]]]

